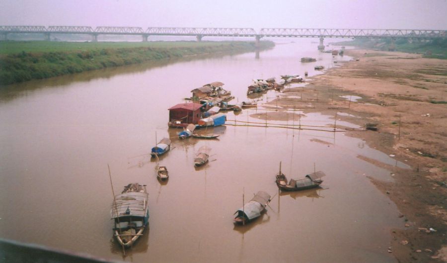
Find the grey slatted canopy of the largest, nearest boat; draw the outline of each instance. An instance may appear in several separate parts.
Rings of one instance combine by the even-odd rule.
[[[147,215],[147,210],[149,209],[148,198],[149,194],[142,192],[128,192],[116,195],[115,196],[116,207],[115,203],[112,203],[112,209],[111,209],[112,218],[121,216],[145,217]]]

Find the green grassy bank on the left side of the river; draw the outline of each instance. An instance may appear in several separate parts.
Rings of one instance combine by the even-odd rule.
[[[274,47],[262,41],[260,49]],[[254,42],[0,42],[0,85],[170,57],[255,51]]]

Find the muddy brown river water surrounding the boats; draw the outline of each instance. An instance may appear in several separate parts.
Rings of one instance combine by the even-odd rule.
[[[254,78],[314,75],[321,73],[315,64],[349,59],[318,53],[316,45],[300,40],[259,58],[203,56],[8,87],[0,94],[0,236],[111,261],[394,262],[390,229],[404,222],[367,177],[392,180],[392,171],[358,156],[405,164],[340,132],[228,125],[210,129],[219,140],[179,140],[180,130],[167,128],[167,108],[206,83],[224,82],[241,102]],[[302,64],[303,56],[318,60]],[[259,121],[250,117],[259,111],[227,118]],[[310,113],[301,121],[330,125],[333,116]],[[155,134],[172,138],[173,149],[160,158],[170,175],[165,184],[148,155]],[[196,168],[204,145],[211,161]],[[288,178],[324,171],[322,188],[278,194],[280,161]],[[107,164],[115,192],[132,182],[149,191],[150,227],[126,257],[112,238]],[[276,195],[266,212],[235,226],[242,196],[247,202],[260,190]]]

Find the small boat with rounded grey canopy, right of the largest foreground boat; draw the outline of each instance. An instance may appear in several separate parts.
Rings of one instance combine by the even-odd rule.
[[[245,224],[259,217],[265,210],[265,206],[270,202],[270,195],[264,191],[259,191],[247,204],[238,209],[234,214],[234,222]]]

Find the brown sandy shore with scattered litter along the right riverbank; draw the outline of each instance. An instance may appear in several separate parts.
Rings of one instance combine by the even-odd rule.
[[[389,169],[395,179],[387,183],[371,178],[406,222],[405,229],[392,230],[388,252],[399,262],[447,262],[447,60],[370,50],[346,54],[354,59],[310,78],[304,88],[287,90],[291,99],[281,99],[281,104],[305,112],[340,110],[360,118],[337,119],[361,126],[376,123],[377,131],[353,130],[347,135],[412,167],[401,169],[359,156]],[[362,99],[350,103],[340,97],[351,95]],[[269,113],[273,119],[285,116]]]

